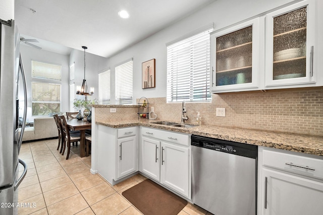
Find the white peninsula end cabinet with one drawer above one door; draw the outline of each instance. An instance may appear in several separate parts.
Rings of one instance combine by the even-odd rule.
[[[98,125],[98,173],[112,185],[138,171],[137,127]]]

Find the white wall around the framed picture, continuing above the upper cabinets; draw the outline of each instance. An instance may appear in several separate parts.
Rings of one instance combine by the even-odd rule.
[[[167,88],[167,54],[166,44],[195,32],[202,26],[214,23],[214,30],[233,25],[253,16],[273,10],[291,0],[218,0],[181,21],[159,31],[136,45],[109,58],[111,67],[111,98],[115,98],[115,66],[133,57],[133,104],[142,96],[166,97]],[[156,59],[156,87],[141,88],[141,63]],[[112,103],[114,104],[114,103]]]

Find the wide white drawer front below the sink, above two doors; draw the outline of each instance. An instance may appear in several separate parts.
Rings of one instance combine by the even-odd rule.
[[[165,140],[168,142],[172,142],[174,144],[189,146],[189,135],[187,134],[174,133],[170,131],[157,130],[157,129],[147,128],[147,127],[141,128],[141,134],[145,136],[150,136],[161,140]]]

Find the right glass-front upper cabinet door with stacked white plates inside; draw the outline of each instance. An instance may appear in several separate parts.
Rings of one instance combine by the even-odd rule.
[[[313,2],[302,1],[266,15],[265,87],[315,83]]]

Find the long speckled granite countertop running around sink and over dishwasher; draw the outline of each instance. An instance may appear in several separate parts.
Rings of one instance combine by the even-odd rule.
[[[158,120],[162,121],[162,120]],[[153,124],[148,120],[127,121],[96,121],[96,124],[121,128],[136,125],[165,129],[174,132],[182,132],[199,136],[225,139],[244,144],[271,147],[293,152],[323,156],[323,136],[295,134],[287,132],[264,131],[256,129],[244,129],[224,126],[195,126],[190,128],[173,127],[169,125]]]

